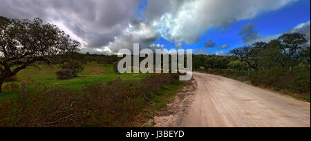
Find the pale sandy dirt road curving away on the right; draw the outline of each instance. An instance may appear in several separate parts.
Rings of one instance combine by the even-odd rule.
[[[310,103],[194,72],[197,89],[178,127],[310,127]]]

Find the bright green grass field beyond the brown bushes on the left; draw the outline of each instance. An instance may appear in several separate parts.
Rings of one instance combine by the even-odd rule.
[[[140,80],[147,74],[117,74],[113,72],[112,65],[98,64],[95,62],[87,63],[84,65],[84,70],[78,74],[78,77],[70,78],[67,80],[57,80],[55,71],[57,66],[37,65],[35,67],[29,66],[26,69],[21,70],[17,74],[18,80],[15,82],[3,83],[3,87],[10,83],[17,83],[20,85],[22,82],[29,82],[30,80],[50,87],[66,87],[70,90],[83,89],[84,85],[95,82],[106,82],[109,80],[115,80],[120,77],[122,80]],[[37,83],[28,83],[28,93],[32,91],[33,87],[36,87]],[[10,89],[3,89],[3,94],[0,94],[0,99],[10,98],[16,91]]]

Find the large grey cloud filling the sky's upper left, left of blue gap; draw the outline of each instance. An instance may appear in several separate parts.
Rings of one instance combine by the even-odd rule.
[[[0,3],[1,16],[59,21],[83,39],[88,47],[100,48],[113,42],[115,36],[136,18],[139,0],[0,0]]]

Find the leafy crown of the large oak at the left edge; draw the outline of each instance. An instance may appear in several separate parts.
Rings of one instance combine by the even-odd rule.
[[[7,78],[37,61],[53,63],[57,56],[77,52],[79,45],[56,25],[39,18],[0,17],[0,94]]]

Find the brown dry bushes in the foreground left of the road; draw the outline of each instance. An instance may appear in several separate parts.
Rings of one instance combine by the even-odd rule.
[[[130,127],[148,98],[178,76],[155,74],[139,80],[120,78],[93,83],[81,91],[40,90],[27,98],[1,102],[0,127]],[[149,96],[149,98],[152,98]]]

